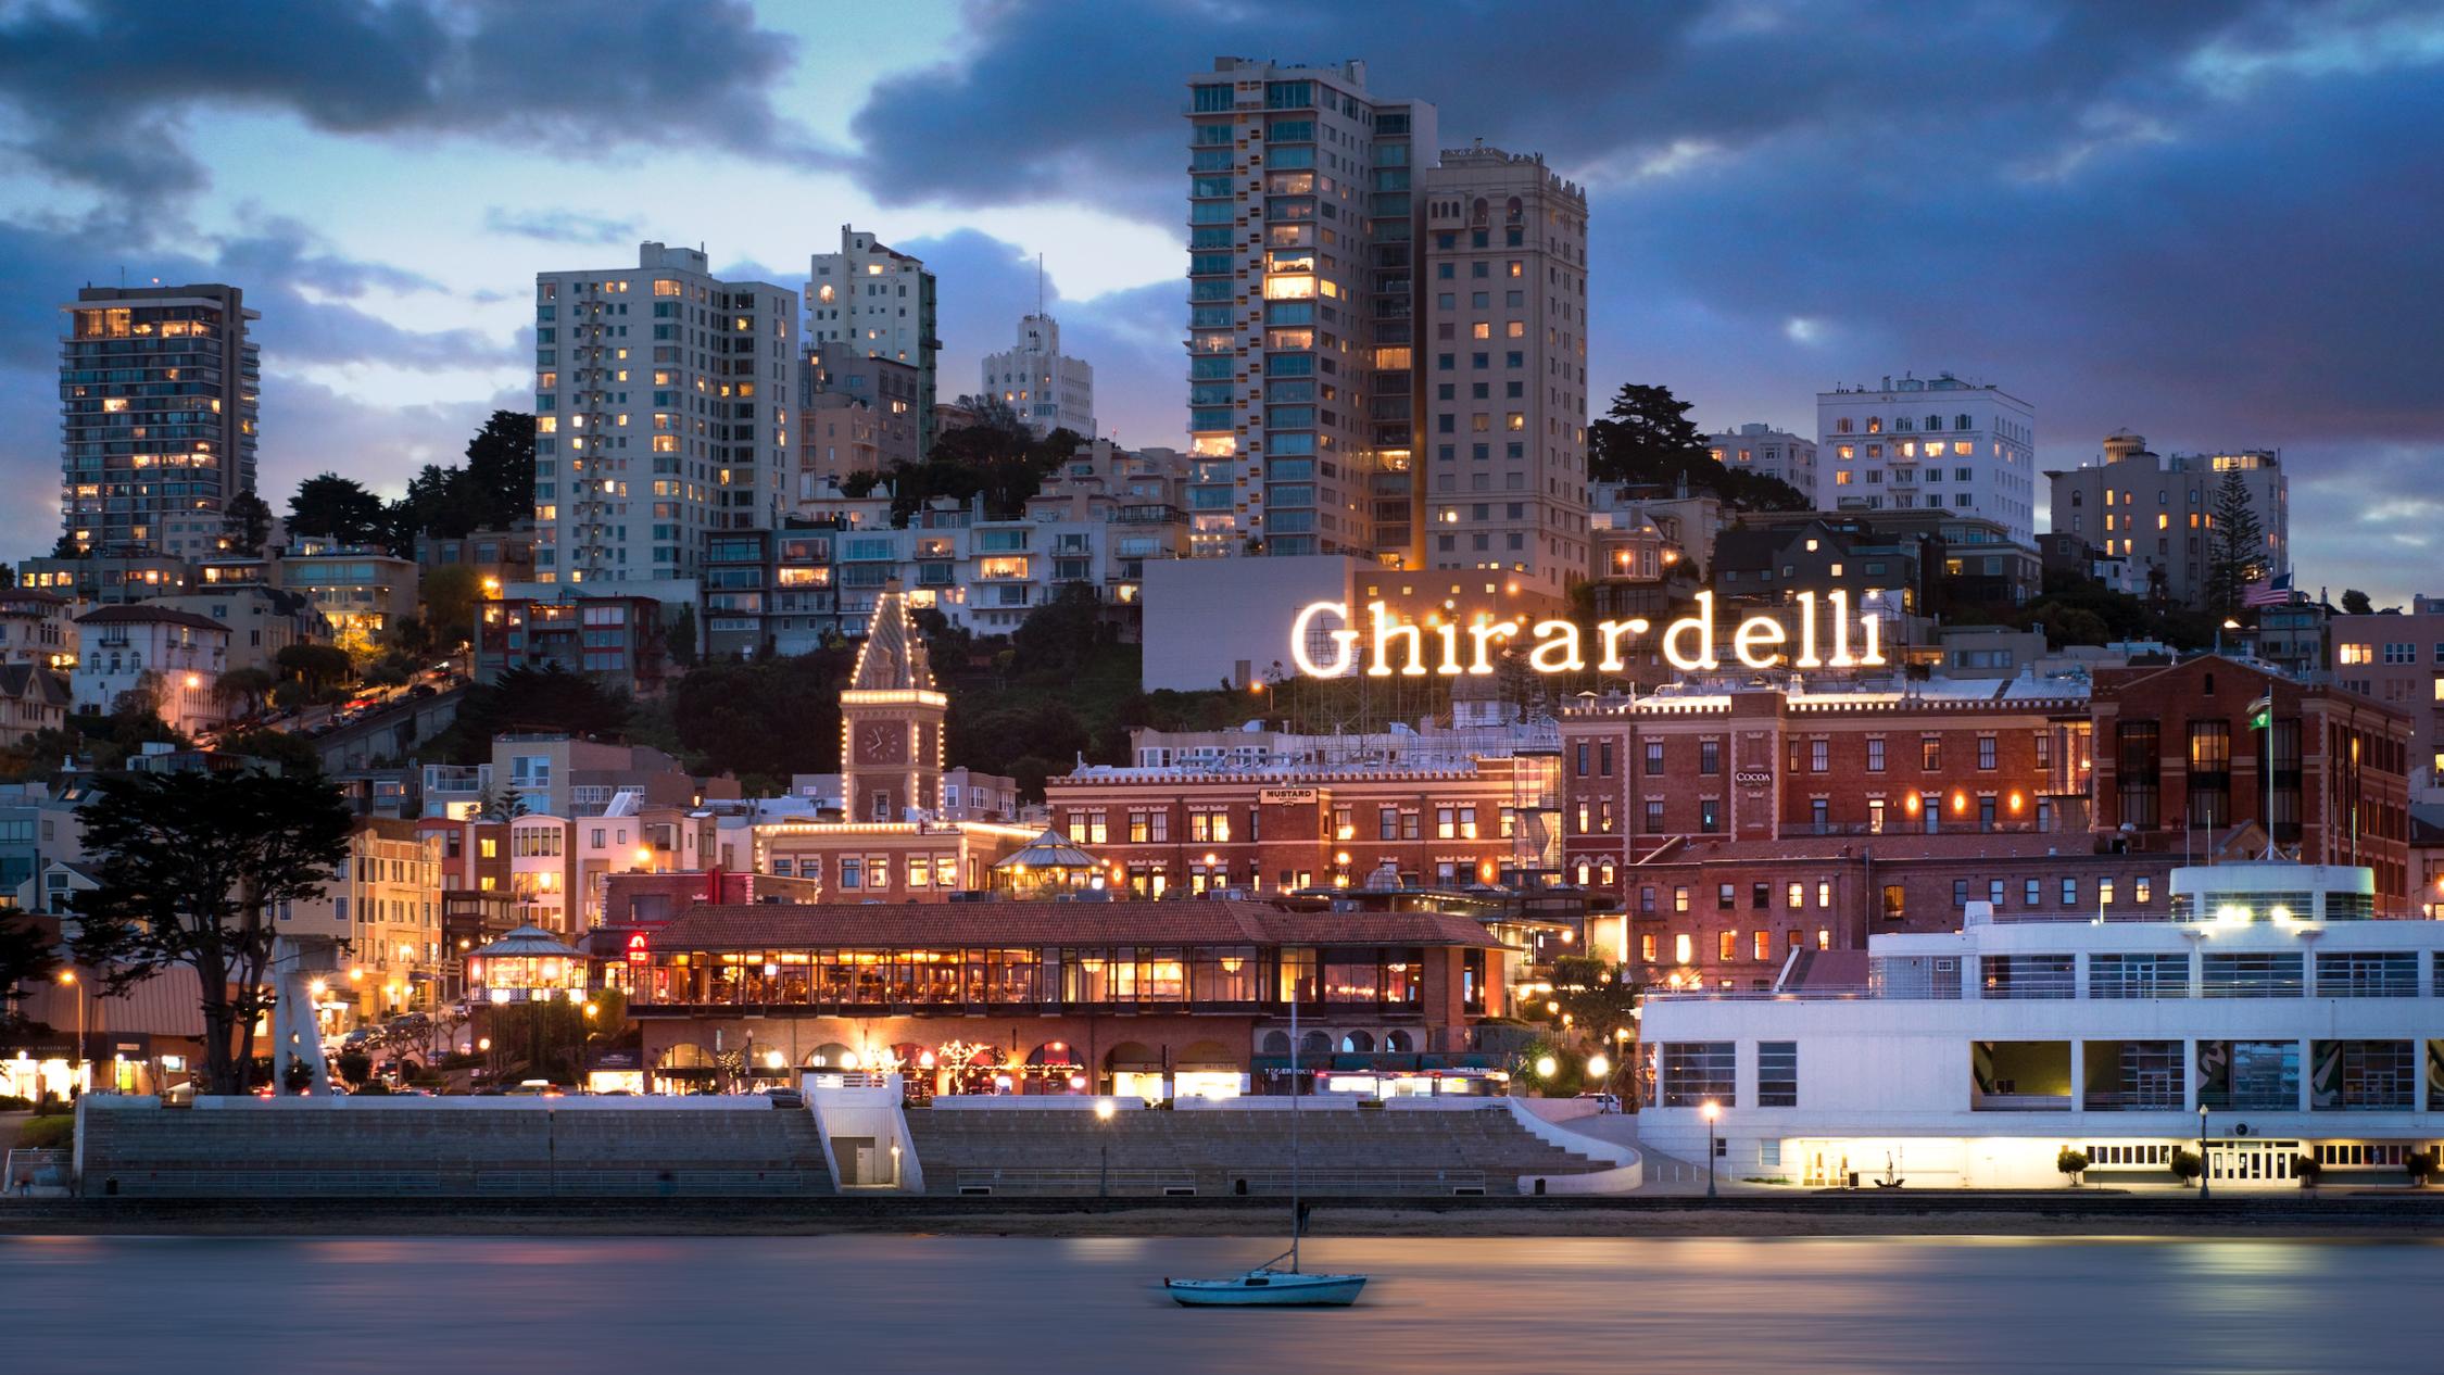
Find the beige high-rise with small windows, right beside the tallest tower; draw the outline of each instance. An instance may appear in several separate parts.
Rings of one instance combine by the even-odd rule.
[[[1427,569],[1589,576],[1586,188],[1481,139],[1420,176]]]

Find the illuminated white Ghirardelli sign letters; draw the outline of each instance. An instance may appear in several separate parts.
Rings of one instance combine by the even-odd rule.
[[[1850,593],[1833,591],[1826,593],[1826,630],[1833,640],[1833,652],[1818,657],[1818,625],[1816,625],[1816,593],[1804,591],[1799,601],[1799,657],[1784,655],[1779,647],[1789,642],[1789,633],[1772,615],[1750,615],[1730,633],[1733,657],[1750,669],[1772,669],[1789,662],[1796,669],[1850,669],[1850,667],[1879,667],[1884,655],[1879,652],[1879,620],[1875,615],[1860,615],[1855,620],[1857,630],[1857,655],[1850,655]],[[1342,628],[1325,630],[1334,645],[1334,657],[1327,664],[1317,664],[1308,652],[1308,637],[1317,625],[1332,618]],[[1540,674],[1576,674],[1586,669],[1586,645],[1584,633],[1569,620],[1540,620],[1528,628],[1523,620],[1479,620],[1476,625],[1442,623],[1442,625],[1398,625],[1391,611],[1381,601],[1366,603],[1369,630],[1349,628],[1349,606],[1339,601],[1315,601],[1300,608],[1298,620],[1290,623],[1290,662],[1298,672],[1315,679],[1339,679],[1364,672],[1366,677],[1393,677],[1393,674],[1491,674],[1493,655],[1501,645],[1518,640],[1520,630],[1530,630],[1535,647],[1528,652],[1528,667]],[[1628,664],[1620,659],[1620,642],[1645,635],[1652,625],[1645,618],[1633,620],[1598,620],[1596,623],[1596,672],[1618,674]],[[1366,642],[1361,647],[1361,642]],[[1696,652],[1689,652],[1689,645]],[[1664,662],[1681,672],[1721,669],[1723,662],[1716,657],[1713,635],[1713,593],[1696,593],[1696,615],[1684,615],[1664,625],[1662,635]],[[1398,659],[1398,667],[1393,667]],[[1427,667],[1432,659],[1432,667]]]

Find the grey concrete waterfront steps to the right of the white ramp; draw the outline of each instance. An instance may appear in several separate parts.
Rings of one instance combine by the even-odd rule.
[[[931,1194],[1288,1194],[1288,1111],[912,1109]],[[1515,1194],[1520,1175],[1608,1165],[1481,1111],[1298,1116],[1303,1194]]]

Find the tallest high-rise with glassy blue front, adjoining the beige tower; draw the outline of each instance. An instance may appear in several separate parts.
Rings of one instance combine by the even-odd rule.
[[[1188,88],[1195,550],[1415,567],[1410,181],[1435,107],[1374,95],[1364,61],[1222,56]]]

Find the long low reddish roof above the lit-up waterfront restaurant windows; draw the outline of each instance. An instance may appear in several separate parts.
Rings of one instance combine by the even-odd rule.
[[[692,906],[655,950],[985,945],[1479,945],[1466,916],[1283,911],[1246,901],[731,904]]]

